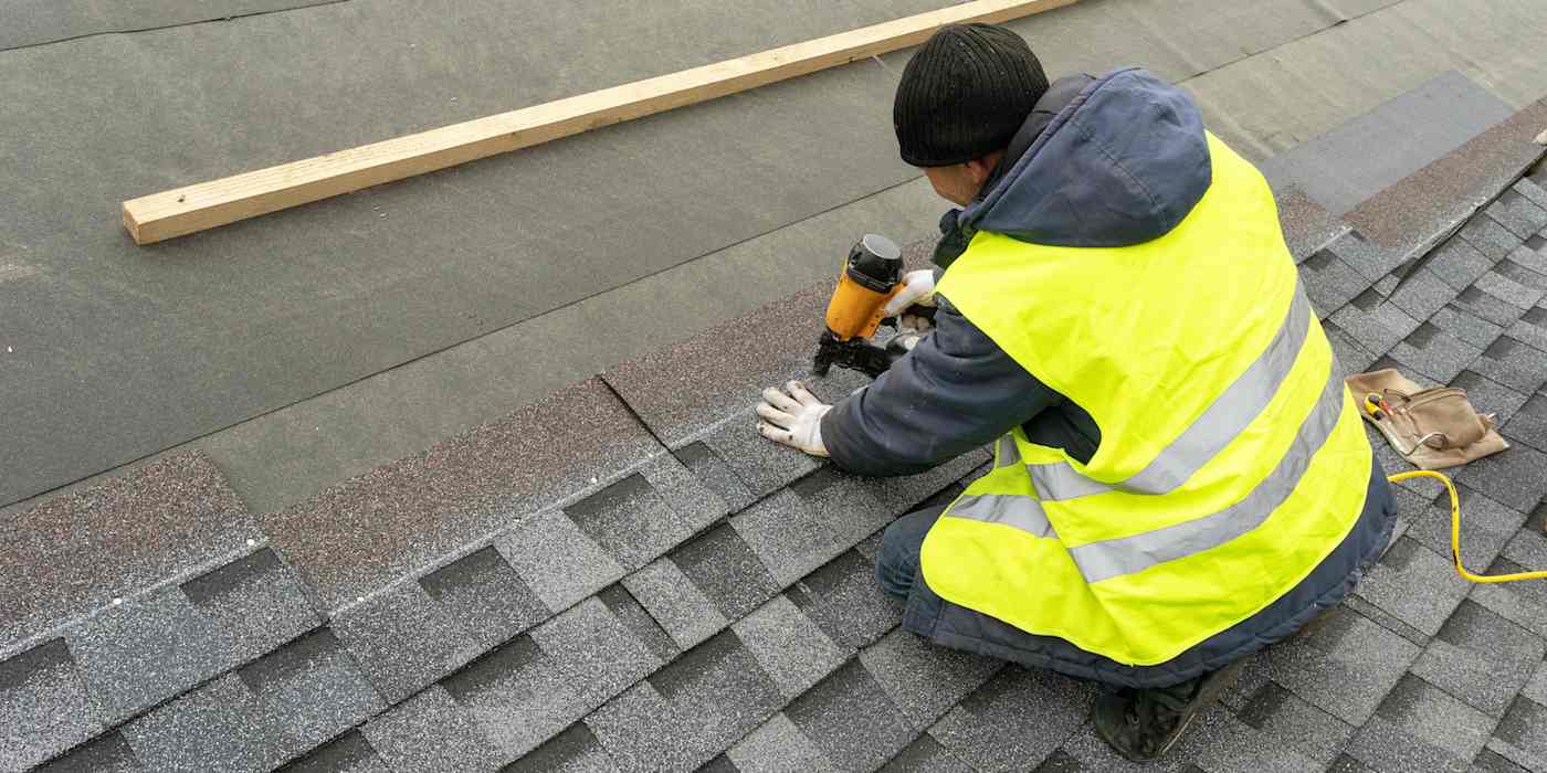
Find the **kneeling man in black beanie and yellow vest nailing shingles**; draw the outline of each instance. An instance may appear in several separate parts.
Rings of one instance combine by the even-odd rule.
[[[1394,519],[1273,195],[1182,90],[1049,87],[993,26],[936,32],[893,124],[962,207],[888,308],[934,303],[934,329],[831,408],[767,390],[760,428],[877,476],[993,442],[961,498],[886,529],[882,586],[936,643],[1108,685],[1095,730],[1159,758]]]

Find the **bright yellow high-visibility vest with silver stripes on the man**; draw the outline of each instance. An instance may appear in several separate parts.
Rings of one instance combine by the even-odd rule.
[[[1171,660],[1306,578],[1358,521],[1371,447],[1255,167],[1170,233],[1054,247],[979,232],[939,294],[1089,411],[1089,464],[999,439],[930,530],[947,601],[1128,665]]]

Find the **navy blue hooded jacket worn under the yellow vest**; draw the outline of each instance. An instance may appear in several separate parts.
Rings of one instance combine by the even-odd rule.
[[[1185,91],[1143,70],[1057,80],[1010,142],[982,193],[948,212],[936,263],[990,230],[1058,246],[1131,246],[1180,223],[1211,179],[1202,116]],[[1100,427],[1032,377],[951,305],[911,354],[821,422],[840,468],[911,475],[1021,425],[1035,444],[1089,461]],[[1120,686],[1166,686],[1287,637],[1341,601],[1386,546],[1395,504],[1380,470],[1358,524],[1306,580],[1256,615],[1156,666],[1129,666],[951,604],[916,581],[903,625],[936,643]]]

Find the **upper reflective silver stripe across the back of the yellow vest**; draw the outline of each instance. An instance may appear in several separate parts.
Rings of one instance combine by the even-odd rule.
[[[1278,394],[1289,377],[1310,332],[1310,301],[1299,283],[1289,305],[1289,315],[1272,343],[1177,439],[1171,441],[1148,467],[1132,478],[1105,484],[1086,478],[1067,462],[1032,464],[1032,482],[1046,502],[1060,502],[1106,493],[1114,489],[1131,493],[1170,493],[1187,482],[1230,441],[1245,431],[1262,408]]]

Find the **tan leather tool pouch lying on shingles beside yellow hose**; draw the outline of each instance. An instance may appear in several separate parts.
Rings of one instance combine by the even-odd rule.
[[[1457,467],[1510,447],[1493,430],[1493,416],[1473,408],[1467,390],[1425,390],[1391,368],[1349,376],[1347,386],[1360,405],[1360,416],[1423,470]],[[1389,407],[1378,417],[1364,410],[1364,399],[1372,393]]]

